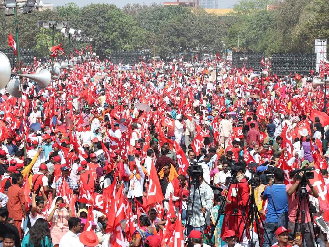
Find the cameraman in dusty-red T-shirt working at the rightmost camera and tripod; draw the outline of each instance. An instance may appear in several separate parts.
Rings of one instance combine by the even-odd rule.
[[[298,203],[299,203],[299,197],[301,194],[301,185],[302,185],[302,180],[306,178],[302,178],[300,173],[300,169],[295,169],[294,171],[290,172],[290,177],[292,181],[294,182],[293,184],[288,184],[286,185],[286,191],[287,191],[287,196],[288,196],[288,207],[289,207],[289,222],[288,222],[288,229],[290,229],[292,232],[294,232],[295,228],[295,220],[296,220],[296,213],[297,213],[297,208],[298,208]],[[304,176],[304,175],[302,175]],[[318,198],[318,193],[316,189],[313,187],[313,185],[310,183],[309,179],[306,179],[306,190],[308,193],[315,198]],[[314,246],[314,232],[313,232],[313,226],[312,226],[312,221],[310,215],[310,209],[308,206],[308,202],[306,201],[307,199],[305,198],[305,201],[302,203],[305,204],[305,232],[303,235],[303,239],[306,242],[306,246]],[[298,225],[296,232],[301,232],[301,219],[302,219],[302,210],[300,210],[299,213],[299,219],[298,219]]]

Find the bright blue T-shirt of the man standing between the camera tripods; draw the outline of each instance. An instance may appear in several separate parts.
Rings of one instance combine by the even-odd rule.
[[[272,198],[272,195],[274,199]],[[273,184],[272,186],[267,186],[263,194],[263,199],[266,198],[268,199],[268,205],[267,205],[265,222],[277,223],[278,215],[284,212],[288,212],[288,198],[286,192],[286,185]],[[273,205],[273,201],[275,205]],[[274,210],[274,206],[276,210]]]

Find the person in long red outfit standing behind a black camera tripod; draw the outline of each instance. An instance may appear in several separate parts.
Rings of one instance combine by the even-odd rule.
[[[243,217],[248,214],[246,208],[250,192],[247,179],[244,177],[244,171],[244,161],[240,161],[234,168],[232,168],[231,175],[235,178],[235,182],[232,183],[227,192],[227,204],[221,234],[224,234],[227,230],[233,230],[236,234],[241,236],[244,232],[245,218]],[[245,233],[243,233],[243,244],[248,244],[248,239],[245,236]]]

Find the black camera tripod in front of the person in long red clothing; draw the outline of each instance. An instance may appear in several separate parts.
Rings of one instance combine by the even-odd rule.
[[[241,216],[242,217],[238,228],[234,230],[235,232],[239,231],[239,228],[240,228],[240,225],[241,225],[242,222],[244,223],[244,228],[246,229],[246,227],[247,227],[247,218],[245,216],[245,208],[244,208],[244,206],[242,206],[242,203],[240,203],[240,201],[242,201],[242,196],[241,196],[241,193],[240,193],[239,188],[238,188],[238,181],[236,179],[236,173],[233,173],[233,174],[231,173],[231,175],[232,175],[232,177],[230,179],[229,184],[227,185],[225,195],[224,195],[223,199],[221,199],[221,202],[220,202],[220,208],[218,209],[218,216],[217,216],[216,222],[214,224],[214,229],[211,232],[211,235],[210,235],[210,238],[209,238],[210,241],[212,241],[212,238],[214,236],[215,229],[216,229],[216,226],[218,224],[220,215],[223,215],[224,212],[225,212],[226,199],[227,199],[228,192],[230,191],[230,188],[231,187],[234,187],[236,189],[236,191],[237,191],[237,195],[236,195],[237,200],[238,200],[238,203],[237,204],[240,206],[240,212],[241,213],[238,215],[239,208],[234,208],[233,209],[233,214],[225,214],[225,215],[226,216],[230,216],[230,215],[234,216],[235,221],[238,221],[239,220],[237,218],[238,216]],[[249,231],[246,231],[246,236],[247,236],[248,239],[250,239]],[[242,236],[241,236],[241,238],[242,238]],[[251,241],[251,243],[252,243],[252,241]],[[253,245],[251,245],[251,247],[253,247]]]

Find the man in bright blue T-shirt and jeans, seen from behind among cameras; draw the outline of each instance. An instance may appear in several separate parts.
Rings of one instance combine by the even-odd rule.
[[[285,194],[284,171],[278,168],[274,170],[273,175],[274,184],[270,184],[265,188],[262,197],[263,201],[268,199],[265,217],[265,231],[267,234],[264,233],[263,247],[271,246],[275,231],[281,226],[287,227],[288,224],[288,199]]]

